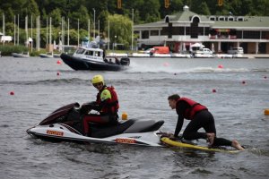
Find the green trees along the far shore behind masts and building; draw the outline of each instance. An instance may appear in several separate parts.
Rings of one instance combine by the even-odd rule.
[[[91,21],[91,35],[93,32],[93,21],[95,20],[95,31],[100,30],[100,35],[108,37],[108,20],[110,21],[109,35],[111,43],[129,46],[131,43],[131,26],[134,17],[134,25],[160,21],[167,14],[181,12],[184,5],[188,5],[190,11],[204,15],[229,15],[236,16],[255,15],[269,16],[268,0],[169,0],[166,6],[164,0],[121,0],[121,8],[117,7],[118,0],[0,0],[0,21],[5,21],[5,34],[13,36],[14,17],[20,16],[20,28],[24,28],[25,16],[33,19],[40,17],[41,28],[48,24],[48,18],[52,17],[53,38],[56,38],[61,29],[62,17],[65,21],[69,19],[71,42],[76,40],[78,27],[81,37],[87,36],[88,22]],[[35,23],[35,21],[34,21]],[[67,23],[65,23],[67,25]],[[30,25],[29,25],[30,27]],[[35,27],[35,25],[33,26]],[[21,30],[22,31],[22,30]],[[41,30],[41,35],[46,30]],[[98,31],[99,32],[99,31]],[[82,33],[82,34],[81,34]],[[97,34],[97,31],[96,31]],[[23,38],[23,35],[22,37]],[[41,44],[46,43],[41,37]]]

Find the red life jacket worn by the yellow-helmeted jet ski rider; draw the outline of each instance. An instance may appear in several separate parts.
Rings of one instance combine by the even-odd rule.
[[[109,90],[109,92],[111,94],[111,98],[107,99],[108,104],[105,105],[104,107],[102,107],[102,109],[100,110],[100,113],[113,114],[113,115],[117,114],[119,104],[118,104],[118,99],[117,99],[117,93],[116,93],[113,86],[111,86],[111,87],[105,86],[105,88],[100,90],[100,92],[97,94],[97,99],[96,99],[97,104],[101,103],[100,94],[102,93],[103,90]]]

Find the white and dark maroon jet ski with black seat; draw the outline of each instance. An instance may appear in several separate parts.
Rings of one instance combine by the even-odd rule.
[[[46,141],[73,141],[80,143],[126,143],[161,147],[158,134],[164,121],[129,119],[113,126],[91,124],[91,136],[82,132],[79,103],[60,107],[39,124],[27,130],[33,137]]]

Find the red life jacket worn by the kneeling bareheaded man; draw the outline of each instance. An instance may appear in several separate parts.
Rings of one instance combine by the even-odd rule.
[[[189,98],[179,98],[178,101],[185,101],[190,106],[190,108],[187,108],[185,113],[183,114],[184,118],[189,120],[192,120],[197,112],[207,110],[206,107]]]

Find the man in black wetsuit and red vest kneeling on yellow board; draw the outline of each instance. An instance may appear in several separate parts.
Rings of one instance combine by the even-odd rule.
[[[170,134],[170,139],[178,137],[181,131],[184,119],[190,120],[183,138],[185,140],[205,139],[210,146],[232,146],[236,149],[243,150],[238,141],[229,141],[223,138],[216,137],[216,128],[213,115],[208,111],[207,107],[195,102],[190,98],[180,98],[178,94],[169,96],[169,107],[176,109],[178,114],[178,123],[174,134]],[[199,129],[204,128],[205,132],[198,132]]]

